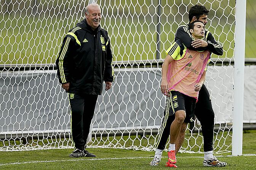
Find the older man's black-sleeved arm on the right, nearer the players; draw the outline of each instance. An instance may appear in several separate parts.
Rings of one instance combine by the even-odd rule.
[[[106,42],[106,52],[107,52],[107,60],[105,63],[104,81],[106,84],[105,90],[109,90],[111,88],[112,82],[114,82],[115,80],[114,68],[112,66],[114,57],[112,55],[109,38],[107,39],[107,42]]]

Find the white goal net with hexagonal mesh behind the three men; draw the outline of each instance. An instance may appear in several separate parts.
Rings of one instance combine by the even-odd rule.
[[[0,151],[72,148],[70,110],[54,63],[88,0],[1,0]],[[210,10],[206,28],[223,43],[205,85],[215,112],[214,152],[231,151],[235,1],[96,0],[108,30],[116,80],[99,96],[88,147],[154,150],[165,106],[160,92],[165,50],[188,11]],[[207,114],[207,113],[205,113]],[[186,131],[183,152],[202,152],[200,123]]]

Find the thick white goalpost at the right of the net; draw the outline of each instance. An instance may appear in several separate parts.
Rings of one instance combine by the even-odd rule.
[[[235,69],[232,155],[240,156],[242,155],[243,149],[246,0],[237,0],[235,8]]]

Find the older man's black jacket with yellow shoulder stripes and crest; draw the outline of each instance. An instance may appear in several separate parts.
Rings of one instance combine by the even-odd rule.
[[[60,83],[70,83],[69,93],[102,94],[103,81],[115,79],[113,56],[106,30],[92,30],[86,20],[65,36],[56,60]]]

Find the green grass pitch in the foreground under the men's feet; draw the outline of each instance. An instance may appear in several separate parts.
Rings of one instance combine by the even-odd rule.
[[[227,167],[203,167],[203,154],[178,153],[178,169],[203,170],[252,170],[256,168],[256,130],[243,133],[243,156],[232,157],[231,153],[216,154],[219,160],[226,161]],[[0,169],[83,169],[83,170],[154,170],[170,169],[165,167],[167,152],[163,152],[162,162],[158,167],[150,167],[149,162],[154,152],[134,151],[110,148],[88,148],[97,155],[92,158],[69,158],[72,149],[35,150],[0,152]]]

